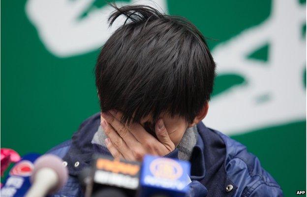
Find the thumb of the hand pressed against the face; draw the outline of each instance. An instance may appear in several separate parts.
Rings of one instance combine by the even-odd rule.
[[[164,126],[164,122],[162,119],[159,119],[155,124],[155,133],[158,140],[169,150],[173,151],[175,149],[175,145],[172,142],[171,138],[168,135],[168,132]]]

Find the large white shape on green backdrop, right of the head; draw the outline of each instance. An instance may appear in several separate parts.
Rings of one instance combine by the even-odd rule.
[[[215,47],[217,73],[239,74],[246,83],[212,100],[208,125],[229,134],[305,120],[305,22],[306,7],[298,0],[273,0],[262,24]],[[247,58],[266,45],[267,61]]]

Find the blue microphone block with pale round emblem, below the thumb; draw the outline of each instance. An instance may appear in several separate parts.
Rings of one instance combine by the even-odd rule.
[[[140,197],[184,197],[191,182],[185,161],[146,155],[140,176]]]

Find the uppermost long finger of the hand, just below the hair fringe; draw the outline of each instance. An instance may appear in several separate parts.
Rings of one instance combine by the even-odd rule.
[[[128,127],[120,122],[123,114],[119,111],[111,110],[101,114],[105,120],[112,125],[114,130],[123,138],[128,146],[139,143],[134,135],[129,131]]]

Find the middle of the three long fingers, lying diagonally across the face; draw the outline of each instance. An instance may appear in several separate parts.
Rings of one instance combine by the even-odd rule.
[[[132,159],[133,155],[127,144],[123,141],[123,138],[112,128],[110,124],[103,120],[103,118],[101,118],[101,126],[112,144],[123,155],[123,157],[126,159]]]

